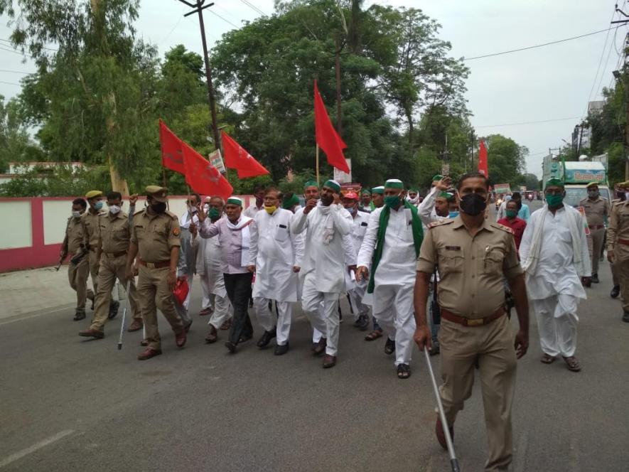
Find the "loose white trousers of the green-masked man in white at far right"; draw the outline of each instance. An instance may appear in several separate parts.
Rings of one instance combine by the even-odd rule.
[[[553,357],[569,358],[576,351],[576,307],[579,298],[559,294],[547,299],[531,300],[537,317],[537,331],[542,352]]]

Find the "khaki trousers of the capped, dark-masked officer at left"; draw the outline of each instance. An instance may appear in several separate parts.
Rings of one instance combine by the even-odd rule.
[[[183,331],[183,323],[175,310],[173,292],[168,290],[168,267],[149,269],[140,266],[137,298],[146,328],[146,340],[149,348],[161,350],[161,338],[157,329],[157,309],[166,317],[175,334]]]

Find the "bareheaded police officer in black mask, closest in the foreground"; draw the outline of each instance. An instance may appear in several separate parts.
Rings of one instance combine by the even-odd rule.
[[[511,231],[485,219],[489,198],[488,181],[483,174],[462,176],[456,194],[460,215],[435,222],[426,233],[417,261],[414,338],[420,350],[431,348],[426,301],[436,265],[441,276],[438,294],[443,384],[439,390],[450,431],[453,434],[456,414],[472,394],[474,366],[478,362],[488,436],[485,471],[502,471],[507,470],[512,458],[511,405],[516,358],[525,355],[529,345],[529,309]],[[515,297],[520,323],[515,343],[505,316],[505,277]],[[446,449],[439,418],[436,436]]]

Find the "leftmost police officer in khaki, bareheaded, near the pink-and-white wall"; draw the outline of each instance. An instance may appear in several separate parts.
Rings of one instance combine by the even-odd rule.
[[[77,292],[77,309],[74,321],[85,318],[85,300],[94,301],[94,292],[87,289],[87,277],[90,275],[90,262],[87,257],[87,238],[81,218],[87,203],[82,198],[72,201],[72,216],[65,227],[65,237],[61,245],[60,259],[63,261],[70,254],[68,280],[72,290]]]

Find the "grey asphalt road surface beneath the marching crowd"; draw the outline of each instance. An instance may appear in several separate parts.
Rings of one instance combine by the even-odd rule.
[[[599,275],[579,309],[581,372],[539,363],[532,313],[513,409],[515,471],[629,470],[629,323],[608,296],[608,264]],[[181,350],[160,318],[163,355],[145,362],[136,360],[141,332],[117,350],[119,318],[104,340],[77,336],[87,323],[67,308],[0,322],[0,470],[449,471],[424,358],[415,351],[412,377],[397,380],[384,341],[365,342],[343,308],[329,370],[311,355],[299,309],[281,357],[254,341],[235,355],[206,345],[198,316]],[[478,384],[455,428],[462,470],[481,471]]]

